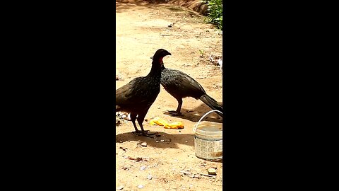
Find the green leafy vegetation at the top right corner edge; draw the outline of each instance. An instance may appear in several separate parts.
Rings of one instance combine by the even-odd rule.
[[[208,3],[205,21],[216,25],[222,30],[222,0],[203,0]]]

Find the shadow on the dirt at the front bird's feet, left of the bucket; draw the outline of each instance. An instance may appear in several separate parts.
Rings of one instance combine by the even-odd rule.
[[[133,134],[132,132],[121,133],[116,135],[115,142],[123,143],[126,141],[139,141],[146,142],[147,146],[153,146],[157,148],[174,148],[174,149],[179,149],[179,146],[177,146],[177,144],[186,144],[192,146],[192,149],[194,149],[194,134],[167,134],[165,132],[158,133],[161,136],[160,137],[153,136],[153,138],[136,135]]]

